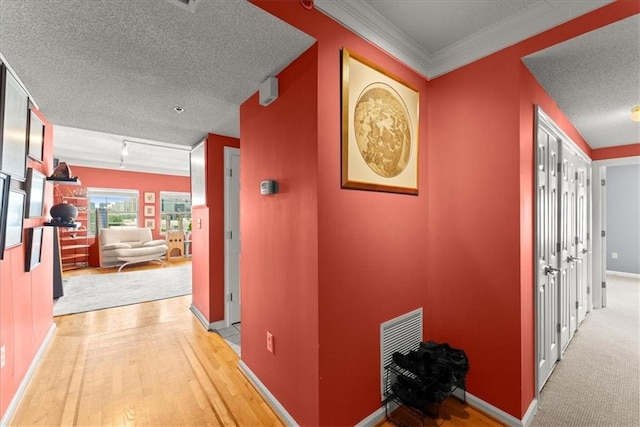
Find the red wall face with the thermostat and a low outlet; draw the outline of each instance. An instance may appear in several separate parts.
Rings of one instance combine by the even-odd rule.
[[[319,424],[317,55],[278,75],[271,105],[240,107],[242,359],[301,425]]]

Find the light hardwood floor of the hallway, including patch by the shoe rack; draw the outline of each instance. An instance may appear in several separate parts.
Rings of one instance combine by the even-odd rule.
[[[10,425],[281,426],[190,303],[188,295],[56,317]],[[450,398],[424,425],[501,424]]]

